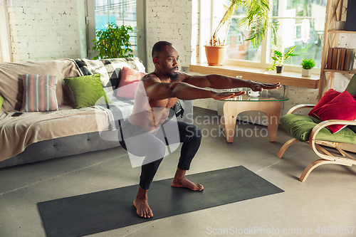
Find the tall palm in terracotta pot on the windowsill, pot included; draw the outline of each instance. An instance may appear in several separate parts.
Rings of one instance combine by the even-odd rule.
[[[276,31],[278,22],[271,21],[271,9],[269,8],[268,0],[230,0],[231,5],[226,7],[226,12],[216,27],[214,34],[209,39],[209,43],[205,45],[206,59],[208,65],[222,65],[226,54],[226,38],[229,33],[232,16],[237,6],[243,6],[246,9],[246,16],[241,19],[241,24],[247,26],[250,30],[250,36],[246,41],[251,41],[254,48],[261,45],[267,28],[271,28],[273,41],[276,41]],[[218,37],[218,33],[223,26],[229,23],[225,32],[224,40]]]

